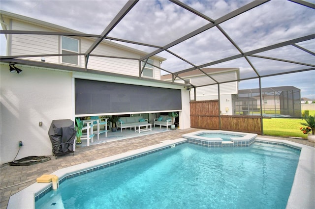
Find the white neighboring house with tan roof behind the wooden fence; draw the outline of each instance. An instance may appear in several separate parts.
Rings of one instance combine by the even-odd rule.
[[[191,84],[207,85],[210,83],[215,83],[212,79],[214,78],[218,82],[224,82],[226,80],[237,80],[239,79],[239,68],[202,68],[202,70],[208,75],[202,73],[201,71],[190,71],[182,73],[180,75],[182,79],[176,78],[175,82],[188,82]],[[211,78],[210,78],[210,77]],[[162,80],[171,81],[172,75],[161,76]],[[196,91],[196,93],[195,93]],[[195,90],[190,89],[190,100],[204,101],[204,100],[218,100],[220,95],[220,109],[222,115],[232,115],[233,114],[233,103],[232,95],[238,92],[238,82],[228,82],[220,84],[220,93],[218,91],[218,85],[208,85],[197,87]],[[195,95],[196,94],[196,95]]]

